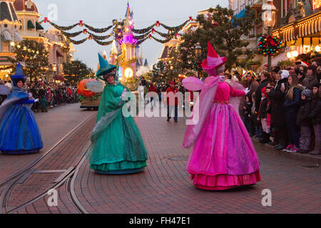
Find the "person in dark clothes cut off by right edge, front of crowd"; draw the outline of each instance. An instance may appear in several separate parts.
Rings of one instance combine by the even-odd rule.
[[[320,83],[313,84],[313,95],[309,118],[315,130],[315,150],[310,152],[312,155],[321,155],[321,100]]]

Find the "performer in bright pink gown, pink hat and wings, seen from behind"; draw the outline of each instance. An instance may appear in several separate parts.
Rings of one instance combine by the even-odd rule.
[[[226,61],[208,42],[203,69],[210,76],[204,83],[193,77],[183,81],[188,90],[202,89],[193,113],[199,110],[199,118],[192,116],[183,147],[193,147],[186,170],[195,187],[203,190],[227,190],[260,181],[258,155],[238,113],[245,88],[219,76]]]

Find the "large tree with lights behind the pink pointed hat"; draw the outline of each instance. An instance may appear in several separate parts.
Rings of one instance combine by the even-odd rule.
[[[231,68],[234,63],[238,66],[237,58],[245,53],[249,44],[242,38],[254,37],[251,31],[258,19],[256,19],[255,11],[250,7],[245,9],[243,18],[237,19],[233,15],[233,10],[216,6],[215,9],[210,9],[207,19],[200,15],[197,21],[198,29],[193,33],[185,33],[182,37],[183,43],[180,43],[178,48],[178,56],[173,58],[175,67],[183,70],[193,69],[196,61],[206,58],[208,41],[220,56],[228,58],[226,68]],[[200,58],[195,56],[196,43],[200,43],[202,47]]]

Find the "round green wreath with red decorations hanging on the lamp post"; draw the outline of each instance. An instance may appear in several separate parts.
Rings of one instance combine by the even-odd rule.
[[[279,41],[279,37],[264,34],[259,39],[258,50],[261,51],[264,56],[273,56],[280,51],[281,44],[282,41]]]

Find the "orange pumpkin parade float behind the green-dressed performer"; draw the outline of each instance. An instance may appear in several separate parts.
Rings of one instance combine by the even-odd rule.
[[[83,79],[78,85],[78,98],[81,102],[80,108],[87,108],[89,110],[98,110],[101,102],[101,93],[94,93],[87,88],[88,83],[98,83],[96,79]]]

